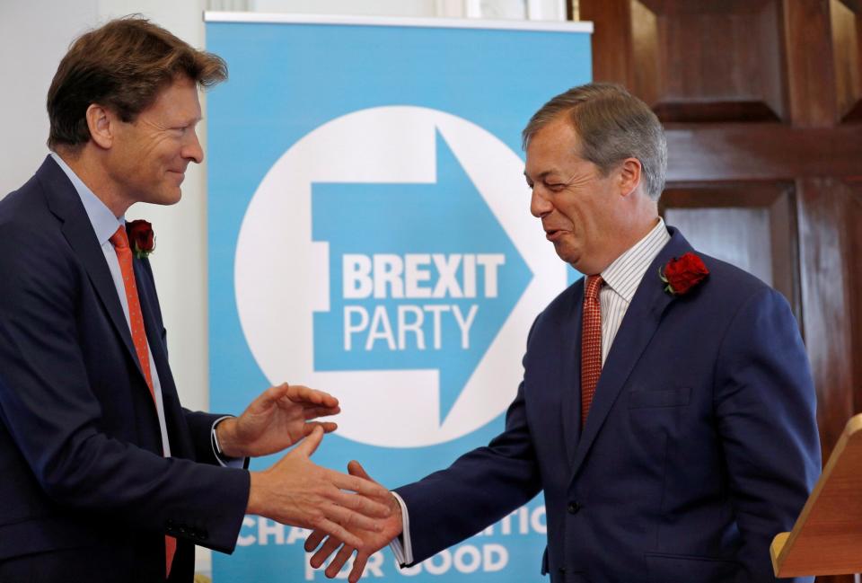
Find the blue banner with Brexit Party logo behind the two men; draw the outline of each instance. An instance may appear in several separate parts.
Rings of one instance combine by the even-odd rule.
[[[333,393],[339,431],[313,461],[357,459],[390,488],[487,444],[533,318],[574,277],[530,215],[520,131],[590,80],[585,27],[218,16],[207,49],[230,80],[207,95],[211,410],[281,382]],[[380,552],[365,576],[540,581],[545,524],[540,497],[415,568]],[[234,555],[214,553],[216,583],[326,580],[307,534],[246,517]]]

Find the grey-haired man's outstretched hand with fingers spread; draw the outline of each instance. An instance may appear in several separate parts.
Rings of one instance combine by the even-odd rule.
[[[365,473],[365,469],[358,462],[347,464],[347,472],[352,476],[356,476],[357,479],[362,479],[368,483],[377,483]],[[401,506],[390,492],[386,492],[386,495],[391,514],[385,520],[378,523],[381,526],[380,529],[365,530],[358,525],[356,527],[348,527],[350,532],[353,533],[353,538],[360,537],[362,539],[362,544],[357,545],[344,537],[333,536],[323,529],[316,529],[305,541],[305,550],[312,552],[314,549],[317,549],[318,545],[324,539],[325,542],[323,542],[323,546],[309,560],[312,567],[315,569],[319,568],[323,564],[323,561],[326,561],[327,557],[338,549],[338,554],[335,555],[335,559],[330,562],[325,571],[329,579],[335,579],[353,552],[358,551],[356,553],[356,561],[353,561],[353,569],[350,570],[350,574],[347,577],[350,583],[356,583],[362,577],[362,572],[365,570],[365,563],[368,562],[368,558],[391,543],[392,539],[401,534],[403,529]]]

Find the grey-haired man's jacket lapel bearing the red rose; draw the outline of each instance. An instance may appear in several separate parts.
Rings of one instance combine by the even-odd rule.
[[[584,464],[590,446],[601,430],[604,421],[610,413],[613,403],[620,396],[622,387],[629,379],[631,371],[638,359],[647,349],[655,331],[662,321],[665,310],[673,303],[673,296],[664,291],[664,286],[658,278],[658,270],[673,257],[679,257],[691,251],[691,246],[676,229],[669,227],[671,240],[658,253],[655,260],[647,268],[644,278],[638,285],[638,290],[631,300],[631,305],[620,324],[620,330],[613,340],[611,352],[602,367],[599,384],[595,388],[593,404],[587,417],[586,425],[580,440],[577,442],[574,460],[572,461],[572,476],[576,475]],[[582,293],[583,296],[583,293]],[[580,320],[578,320],[580,321]],[[578,342],[580,348],[580,342]],[[580,361],[578,352],[576,359]],[[578,374],[580,366],[578,365]],[[580,377],[577,380],[580,386]],[[580,391],[577,392],[580,395]],[[570,420],[572,426],[580,425],[580,407],[578,417]]]

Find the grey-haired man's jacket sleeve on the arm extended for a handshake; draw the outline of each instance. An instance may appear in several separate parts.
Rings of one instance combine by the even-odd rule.
[[[521,383],[506,411],[505,430],[488,446],[395,490],[409,510],[413,562],[408,566],[478,533],[541,490],[523,390]]]

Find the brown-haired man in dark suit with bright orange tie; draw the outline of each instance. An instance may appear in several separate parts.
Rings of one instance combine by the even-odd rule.
[[[309,459],[334,397],[282,384],[238,418],[180,407],[152,234],[129,241],[124,215],[180,199],[203,158],[198,85],[225,76],[140,18],[84,34],[57,69],[53,153],[0,201],[3,583],[189,582],[194,545],[232,552],[246,513],[348,537],[388,515],[367,498],[386,490]]]

